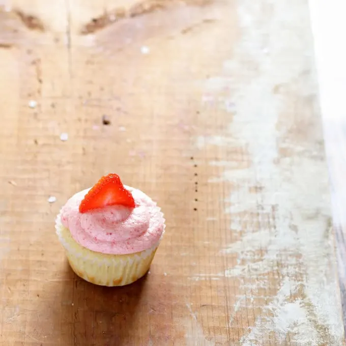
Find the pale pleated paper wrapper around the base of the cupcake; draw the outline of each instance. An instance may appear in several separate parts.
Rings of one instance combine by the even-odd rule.
[[[165,228],[165,220],[159,208],[157,213]],[[72,270],[84,280],[103,286],[127,285],[145,275],[164,233],[163,229],[160,240],[149,249],[116,255],[95,252],[78,244],[70,230],[61,223],[61,214],[56,218],[55,229]]]

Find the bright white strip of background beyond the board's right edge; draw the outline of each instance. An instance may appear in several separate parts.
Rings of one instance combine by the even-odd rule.
[[[328,4],[310,0],[310,12],[316,67],[320,85],[320,103],[324,120],[326,152],[332,192],[332,210],[336,234],[338,274],[344,328],[346,327],[346,49],[340,42],[346,32],[343,13],[346,5],[333,0]],[[323,30],[323,28],[325,30]]]

